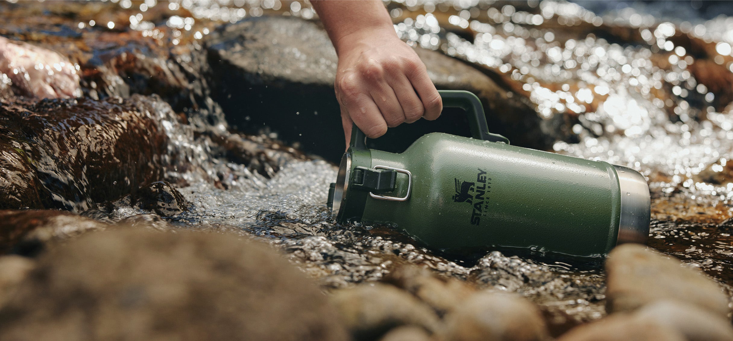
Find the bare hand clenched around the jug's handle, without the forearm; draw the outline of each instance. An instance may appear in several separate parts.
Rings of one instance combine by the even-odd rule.
[[[336,99],[348,146],[353,123],[369,138],[387,127],[441,115],[441,96],[417,53],[394,29],[355,31],[339,40]]]

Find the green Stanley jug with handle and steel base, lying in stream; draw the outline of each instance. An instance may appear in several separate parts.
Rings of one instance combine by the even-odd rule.
[[[526,248],[598,256],[647,240],[644,176],[608,162],[509,146],[488,131],[468,91],[439,91],[463,108],[473,138],[432,132],[401,154],[367,149],[356,126],[331,185],[341,223],[383,224],[443,251]]]

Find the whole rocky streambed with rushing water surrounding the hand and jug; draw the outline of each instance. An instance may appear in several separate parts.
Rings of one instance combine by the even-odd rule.
[[[474,2],[386,6],[493,132],[647,176],[650,249],[458,258],[336,224],[307,3],[4,3],[0,338],[732,340],[733,21]],[[446,111],[370,143],[430,131],[468,133]]]

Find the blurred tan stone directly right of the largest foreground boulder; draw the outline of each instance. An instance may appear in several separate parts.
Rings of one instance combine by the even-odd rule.
[[[420,326],[433,332],[438,317],[427,304],[391,285],[369,283],[335,291],[331,301],[356,340],[375,340],[396,326]]]

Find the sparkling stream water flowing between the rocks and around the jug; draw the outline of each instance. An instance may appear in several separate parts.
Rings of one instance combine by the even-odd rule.
[[[196,51],[217,25],[264,14],[314,18],[301,1],[112,2],[99,4],[97,14],[80,4],[74,15],[51,20],[64,36],[59,39],[73,41],[80,30],[104,31],[99,26],[136,32],[142,41],[165,42],[187,75],[205,74]],[[554,151],[626,165],[647,176],[649,245],[703,269],[732,293],[733,18],[662,21],[638,8],[598,15],[553,1],[397,1],[387,7],[408,44],[493,70],[536,106],[537,115],[572,121],[579,142],[559,141]],[[49,33],[38,38],[33,30],[47,24],[16,21],[0,33],[44,41]],[[124,88],[124,80],[107,80],[103,90],[89,79],[82,86],[92,97]],[[449,258],[386,228],[335,223],[325,201],[336,166],[273,147],[268,137],[259,139],[274,160],[265,162],[270,168],[253,170],[221,157],[216,140],[242,137],[227,130],[202,84],[194,104],[171,103],[188,113],[191,124],[164,125],[172,153],[185,156],[182,171],[169,173],[192,202],[190,211],[169,218],[180,228],[215,226],[268,240],[325,288],[380,280],[395,266],[412,263],[479,287],[521,293],[557,323],[605,315],[602,270],[496,251],[478,261]],[[161,100],[158,105],[170,110]],[[118,201],[110,214],[119,220],[141,213],[148,212]]]

